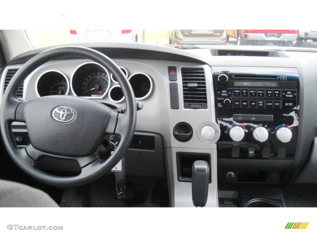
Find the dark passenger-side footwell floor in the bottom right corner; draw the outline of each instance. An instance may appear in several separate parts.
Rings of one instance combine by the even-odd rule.
[[[287,207],[317,207],[317,184],[292,184],[283,193]]]

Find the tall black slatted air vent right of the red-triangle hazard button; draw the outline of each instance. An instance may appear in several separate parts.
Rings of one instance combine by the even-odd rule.
[[[182,68],[185,109],[207,109],[206,79],[203,68]]]

